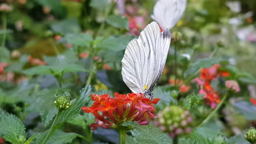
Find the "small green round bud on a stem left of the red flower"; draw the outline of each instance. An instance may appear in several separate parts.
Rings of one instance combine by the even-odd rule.
[[[56,107],[59,108],[59,110],[67,110],[70,107],[70,98],[63,94],[57,96],[57,99],[54,101],[54,104]]]

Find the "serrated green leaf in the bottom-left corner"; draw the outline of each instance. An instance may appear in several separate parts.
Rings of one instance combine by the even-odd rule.
[[[26,142],[25,126],[20,119],[0,108],[0,134],[11,143]]]

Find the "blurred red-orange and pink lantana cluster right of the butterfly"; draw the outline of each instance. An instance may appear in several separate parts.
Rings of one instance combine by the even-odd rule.
[[[212,80],[217,77],[229,76],[226,71],[218,70],[220,64],[215,64],[210,68],[202,68],[200,78],[196,78],[195,81],[200,87],[200,94],[203,94],[203,98],[207,105],[211,105],[212,109],[216,108],[216,105],[220,103],[219,93],[211,86]]]

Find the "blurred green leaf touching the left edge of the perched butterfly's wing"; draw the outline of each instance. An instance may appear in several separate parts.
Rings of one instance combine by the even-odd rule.
[[[104,39],[100,44],[97,45],[97,47],[109,51],[123,51],[126,49],[128,43],[134,38],[135,36],[133,35],[119,35],[118,37],[110,37]]]

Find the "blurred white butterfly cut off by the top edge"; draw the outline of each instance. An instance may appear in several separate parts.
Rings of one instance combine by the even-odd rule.
[[[161,28],[173,28],[181,19],[185,11],[187,0],[159,0],[154,7],[152,19],[159,23]]]

